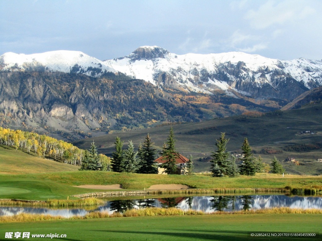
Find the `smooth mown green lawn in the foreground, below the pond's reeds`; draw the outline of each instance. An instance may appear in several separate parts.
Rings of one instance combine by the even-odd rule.
[[[321,240],[319,214],[242,214],[108,218],[66,221],[2,223],[6,232],[66,234],[54,240]],[[253,232],[269,237],[251,237]],[[315,237],[278,237],[276,233],[315,233]],[[15,238],[21,240],[22,238]],[[30,240],[30,239],[29,239]],[[33,239],[31,239],[33,240]],[[36,240],[36,238],[34,239]]]

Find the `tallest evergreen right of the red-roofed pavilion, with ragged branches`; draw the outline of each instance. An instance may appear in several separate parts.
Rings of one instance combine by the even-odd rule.
[[[221,136],[219,140],[216,139],[216,147],[217,151],[212,152],[212,157],[213,159],[211,160],[212,162],[212,167],[211,167],[211,172],[213,173],[214,177],[218,177],[218,170],[214,170],[215,166],[218,165],[220,168],[220,175],[219,176],[224,176],[228,175],[227,170],[230,165],[230,161],[228,160],[229,153],[226,151],[226,144],[229,141],[229,139],[225,138],[225,133],[221,133]],[[216,166],[217,169],[217,166]]]

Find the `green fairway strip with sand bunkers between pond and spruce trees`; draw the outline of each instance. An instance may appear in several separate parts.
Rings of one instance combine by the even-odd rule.
[[[299,175],[285,175],[282,177],[282,175],[277,174],[215,178],[209,175],[156,175],[103,171],[73,171],[20,175],[0,174],[0,187],[11,190],[10,193],[0,192],[0,199],[48,200],[67,199],[68,197],[70,199],[77,199],[71,196],[107,191],[73,187],[86,184],[121,184],[125,188],[124,190],[144,190],[144,188],[155,184],[182,184],[192,188],[221,189],[223,191],[247,188],[274,189],[285,187],[320,190],[322,189],[322,178],[320,176]],[[23,190],[27,190],[28,192],[23,192]],[[194,189],[187,190],[194,191]]]

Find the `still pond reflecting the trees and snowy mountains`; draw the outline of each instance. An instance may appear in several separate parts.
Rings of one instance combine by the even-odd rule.
[[[300,197],[285,195],[243,195],[243,196],[192,196],[176,198],[156,198],[138,200],[107,201],[94,210],[85,209],[51,209],[34,207],[0,207],[0,216],[19,213],[46,214],[52,216],[84,216],[89,212],[101,211],[112,214],[127,209],[146,207],[176,207],[181,210],[201,210],[205,213],[232,210],[257,210],[274,207],[300,209],[322,209],[322,197]]]

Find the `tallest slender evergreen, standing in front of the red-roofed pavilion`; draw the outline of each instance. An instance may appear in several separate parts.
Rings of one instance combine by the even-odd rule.
[[[167,138],[166,147],[163,150],[162,157],[166,160],[163,165],[166,168],[167,174],[176,174],[178,172],[177,166],[175,165],[175,158],[177,153],[175,152],[175,137],[173,134],[173,128],[171,127],[169,136]]]

